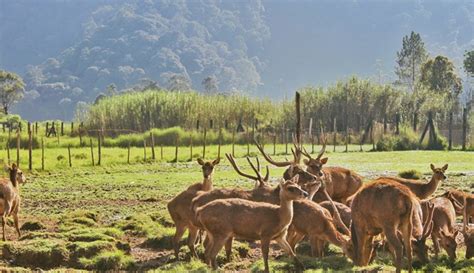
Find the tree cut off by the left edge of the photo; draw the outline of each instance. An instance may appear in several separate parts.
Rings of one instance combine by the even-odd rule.
[[[8,109],[21,100],[25,92],[25,83],[20,76],[13,72],[0,70],[0,100],[3,112],[8,115]]]

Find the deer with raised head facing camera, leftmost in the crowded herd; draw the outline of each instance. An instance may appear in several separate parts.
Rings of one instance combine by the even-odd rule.
[[[219,161],[220,159],[218,158],[212,162],[205,162],[199,158],[197,162],[202,167],[202,173],[204,176],[203,181],[189,186],[185,191],[178,194],[168,203],[168,211],[176,226],[176,232],[172,239],[176,259],[178,259],[179,254],[179,241],[181,240],[181,237],[183,237],[186,229],[189,231],[187,244],[191,251],[191,255],[197,257],[194,245],[196,243],[199,229],[192,223],[194,212],[191,210],[191,201],[198,195],[198,192],[212,190],[212,174],[214,172],[214,167],[219,164]]]

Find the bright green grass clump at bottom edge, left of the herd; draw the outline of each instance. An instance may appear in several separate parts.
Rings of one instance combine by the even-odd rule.
[[[123,251],[105,251],[92,258],[80,258],[79,263],[86,269],[120,270],[130,269],[134,265],[132,257]]]

